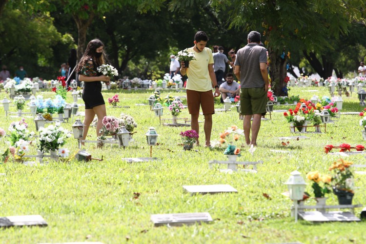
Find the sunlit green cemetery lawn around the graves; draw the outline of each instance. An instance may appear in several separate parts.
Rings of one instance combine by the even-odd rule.
[[[308,90],[319,92],[309,92]],[[13,215],[40,214],[48,223],[47,227],[11,227],[2,229],[2,243],[63,243],[63,242],[102,242],[102,243],[366,243],[365,221],[359,223],[311,224],[305,221],[294,223],[290,217],[292,202],[281,195],[287,190],[284,184],[290,172],[298,170],[305,175],[318,170],[328,173],[328,167],[339,156],[327,155],[324,146],[348,143],[366,145],[362,139],[362,127],[359,115],[341,115],[336,122],[326,126],[326,133],[299,134],[290,133],[289,124],[283,113],[272,113],[272,120],[262,121],[258,138],[258,147],[252,156],[248,146],[244,146],[244,136],[239,140],[242,157],[239,161],[259,161],[258,173],[235,172],[220,173],[214,166],[209,169],[208,161],[226,160],[224,147],[205,148],[195,146],[192,151],[183,151],[179,133],[190,127],[168,127],[159,125],[147,103],[153,90],[103,91],[104,100],[115,93],[119,94],[120,106],[130,108],[112,108],[106,104],[107,115],[119,117],[121,112],[131,115],[138,123],[134,142],[126,148],[106,145],[96,148],[95,143],[84,147],[102,162],[48,163],[43,166],[25,166],[12,160],[0,165],[0,213],[1,217]],[[184,92],[163,90],[161,97],[171,94],[185,96]],[[37,94],[39,95],[39,94]],[[54,97],[54,93],[42,94],[44,98]],[[310,99],[312,95],[329,96],[324,87],[293,88],[289,95],[300,95]],[[7,96],[3,91],[0,99]],[[66,102],[72,102],[71,93]],[[7,96],[8,97],[8,96]],[[357,94],[351,98],[343,96],[342,112],[361,111]],[[79,100],[79,103],[83,103]],[[183,104],[186,104],[183,100]],[[216,99],[216,108],[223,104]],[[289,109],[294,106],[275,105],[274,109]],[[16,111],[15,107],[11,107]],[[79,111],[83,111],[81,107]],[[29,112],[25,111],[25,112]],[[171,118],[164,107],[162,118]],[[179,118],[189,118],[184,109]],[[269,118],[269,116],[266,116]],[[35,131],[35,123],[25,118],[30,131]],[[83,117],[80,116],[81,121]],[[20,118],[5,117],[0,108],[0,127],[7,130],[10,122]],[[199,121],[203,121],[200,116]],[[62,127],[71,131],[71,120]],[[213,115],[211,140],[218,140],[219,133],[231,125],[243,128],[243,122],[235,108],[230,112],[216,112]],[[144,135],[148,127],[154,126],[160,135],[159,145],[153,147],[152,155],[159,161],[144,163],[126,163],[121,158],[149,157],[150,148]],[[310,130],[314,130],[311,128]],[[324,132],[324,127],[322,128]],[[87,139],[95,140],[95,128],[91,127]],[[282,145],[278,137],[305,135],[310,139],[289,140]],[[201,145],[204,145],[203,122],[200,123]],[[1,149],[6,147],[6,138],[2,138]],[[287,142],[287,141],[285,141]],[[70,155],[75,155],[77,141],[70,138],[65,147]],[[36,146],[31,146],[31,154],[36,154]],[[282,150],[285,152],[272,152]],[[333,151],[336,151],[333,149]],[[70,158],[71,158],[70,156]],[[365,163],[363,155],[345,158],[355,164]],[[365,169],[366,170],[366,169]],[[306,191],[312,193],[309,181]],[[183,192],[183,185],[192,184],[230,184],[238,193],[217,195],[195,195]],[[355,175],[354,204],[366,204],[366,176]],[[269,195],[269,198],[263,194]],[[327,204],[337,204],[334,194],[327,195]],[[305,204],[315,205],[314,199]],[[356,208],[359,216],[362,208]],[[151,214],[209,212],[213,218],[211,224],[182,227],[154,227]]]

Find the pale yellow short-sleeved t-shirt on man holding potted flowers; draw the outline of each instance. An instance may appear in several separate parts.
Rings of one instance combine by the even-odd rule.
[[[187,50],[194,53],[195,60],[190,61],[187,68],[188,81],[186,89],[193,91],[212,90],[211,78],[208,72],[208,64],[214,63],[211,49],[205,47],[200,53],[197,53],[193,47],[187,48]]]

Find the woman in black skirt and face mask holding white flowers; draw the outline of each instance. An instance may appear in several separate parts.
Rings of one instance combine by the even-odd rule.
[[[85,127],[82,140],[85,140],[95,115],[98,116],[97,136],[101,135],[99,130],[102,128],[102,120],[106,116],[105,102],[101,92],[101,81],[108,85],[110,78],[100,74],[97,68],[104,64],[105,60],[104,44],[102,41],[95,39],[86,46],[84,55],[81,57],[77,67],[79,81],[85,82],[85,87],[82,91],[82,100],[85,102]]]

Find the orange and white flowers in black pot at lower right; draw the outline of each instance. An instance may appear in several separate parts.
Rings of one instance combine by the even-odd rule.
[[[352,204],[354,195],[353,173],[350,169],[352,164],[352,162],[339,159],[329,167],[329,171],[333,173],[331,182],[333,193],[338,197],[340,205]]]

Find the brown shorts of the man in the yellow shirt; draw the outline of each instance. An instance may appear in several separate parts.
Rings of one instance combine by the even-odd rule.
[[[200,104],[203,114],[214,114],[215,105],[212,90],[199,92],[193,90],[186,90],[187,106],[189,114],[199,114]]]

